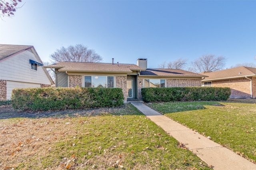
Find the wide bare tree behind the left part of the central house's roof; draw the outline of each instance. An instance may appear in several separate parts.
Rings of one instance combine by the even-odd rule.
[[[101,62],[102,57],[98,55],[93,49],[88,49],[82,44],[75,46],[70,45],[67,48],[61,47],[50,55],[53,62],[73,61],[73,62]]]

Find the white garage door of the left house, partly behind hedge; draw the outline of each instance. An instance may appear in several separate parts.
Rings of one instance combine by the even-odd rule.
[[[29,88],[29,87],[30,88],[41,87],[41,84],[6,81],[7,100],[11,99],[11,94],[12,94],[13,88]]]

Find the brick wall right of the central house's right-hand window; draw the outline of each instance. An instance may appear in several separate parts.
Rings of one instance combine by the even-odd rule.
[[[167,79],[167,87],[200,87],[201,79]]]

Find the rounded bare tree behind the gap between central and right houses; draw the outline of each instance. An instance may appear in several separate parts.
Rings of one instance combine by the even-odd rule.
[[[212,54],[203,55],[199,59],[192,61],[192,68],[190,70],[197,73],[222,70],[226,64],[226,60],[226,57],[223,56],[215,57]]]

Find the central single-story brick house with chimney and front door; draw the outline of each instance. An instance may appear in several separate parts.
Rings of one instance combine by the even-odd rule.
[[[60,62],[55,69],[56,87],[122,88],[127,98],[141,99],[141,88],[201,86],[204,75],[178,69],[147,68],[147,59],[136,64]]]

